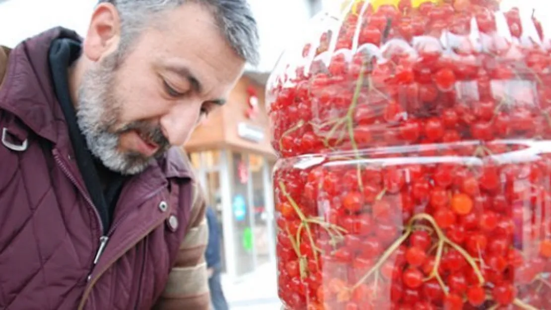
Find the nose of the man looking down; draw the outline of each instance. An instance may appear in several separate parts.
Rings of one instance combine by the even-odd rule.
[[[170,145],[181,146],[186,143],[199,118],[200,104],[179,104],[161,118],[161,130]]]

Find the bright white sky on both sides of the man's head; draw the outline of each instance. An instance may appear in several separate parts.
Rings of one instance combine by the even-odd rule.
[[[334,1],[334,0],[323,0]],[[290,37],[300,34],[310,18],[309,0],[249,0],[261,35],[260,66],[270,71]],[[7,0],[0,3],[0,44],[21,40],[54,26],[84,35],[96,0]]]

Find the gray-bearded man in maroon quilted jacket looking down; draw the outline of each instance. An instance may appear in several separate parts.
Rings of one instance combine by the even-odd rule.
[[[257,46],[246,0],[102,0],[0,48],[1,309],[208,309],[180,147]]]

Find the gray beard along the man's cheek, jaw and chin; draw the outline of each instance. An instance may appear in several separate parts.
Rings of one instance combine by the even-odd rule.
[[[78,91],[77,122],[88,149],[105,167],[123,175],[135,175],[145,170],[152,159],[118,149],[120,134],[128,128],[113,130],[122,107],[114,89],[117,65],[117,56],[110,55],[98,67],[84,73]]]

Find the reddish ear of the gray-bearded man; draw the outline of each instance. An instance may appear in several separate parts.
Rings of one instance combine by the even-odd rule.
[[[99,61],[117,50],[121,34],[121,19],[111,3],[100,3],[90,19],[83,44],[84,56],[90,61]]]

